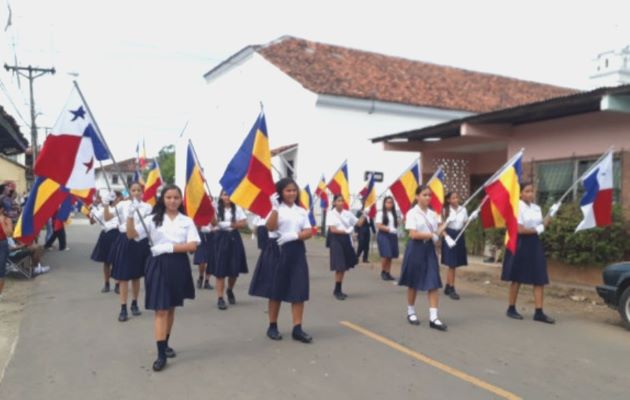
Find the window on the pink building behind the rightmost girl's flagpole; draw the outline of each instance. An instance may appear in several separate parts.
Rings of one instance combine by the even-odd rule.
[[[593,165],[597,159],[575,159],[538,163],[536,165],[537,201],[539,204],[550,204],[560,197],[571,185]],[[614,193],[613,200],[621,198],[621,160],[613,160]],[[580,184],[567,195],[567,201],[578,201],[584,193]]]

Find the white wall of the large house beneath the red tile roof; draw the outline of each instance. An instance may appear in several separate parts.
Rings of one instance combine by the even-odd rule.
[[[386,152],[372,137],[439,123],[445,119],[410,113],[375,112],[317,105],[318,96],[288,77],[262,56],[252,56],[207,84],[202,109],[191,119],[187,134],[195,143],[211,190],[251,128],[264,104],[271,147],[298,143],[297,178],[315,186],[348,160],[351,192],[364,185],[366,170],[384,173],[380,192],[408,167],[416,153]],[[183,149],[183,147],[182,147]],[[276,161],[279,163],[279,160]],[[184,160],[178,161],[178,182],[184,181]]]

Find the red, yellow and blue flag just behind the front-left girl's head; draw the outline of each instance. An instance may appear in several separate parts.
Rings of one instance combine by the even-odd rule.
[[[195,150],[191,141],[188,141],[186,154],[186,187],[184,188],[184,208],[186,214],[197,226],[205,226],[212,222],[215,215],[212,200],[206,192],[205,178],[195,156]]]

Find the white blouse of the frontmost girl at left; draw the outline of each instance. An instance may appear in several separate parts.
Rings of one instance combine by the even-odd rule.
[[[187,217],[184,214],[179,213],[174,219],[171,219],[165,214],[164,221],[162,221],[162,225],[159,227],[155,226],[155,222],[153,222],[153,215],[145,217],[144,223],[151,235],[151,242],[154,246],[164,243],[183,244],[201,242],[199,232],[197,232],[197,227],[195,226],[192,218]],[[142,234],[146,236],[142,224],[140,224],[140,226],[136,226],[136,231],[138,234],[142,231]]]

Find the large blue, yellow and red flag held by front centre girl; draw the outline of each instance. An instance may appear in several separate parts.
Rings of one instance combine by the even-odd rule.
[[[271,175],[271,152],[265,114],[256,123],[228,164],[221,178],[223,190],[235,204],[261,216],[271,211],[271,196],[276,191]]]

